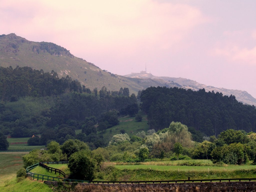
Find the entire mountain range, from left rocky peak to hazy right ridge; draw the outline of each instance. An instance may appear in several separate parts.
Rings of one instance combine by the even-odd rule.
[[[54,70],[59,77],[67,75],[78,80],[82,85],[93,90],[105,86],[110,91],[121,87],[129,88],[130,94],[151,86],[179,87],[185,89],[222,92],[224,95],[235,95],[244,104],[256,105],[256,99],[246,91],[228,90],[206,86],[184,78],[156,77],[151,73],[132,73],[125,76],[102,70],[93,63],[75,57],[69,50],[51,42],[33,42],[14,33],[0,35],[0,66],[15,68],[31,67],[44,72]]]

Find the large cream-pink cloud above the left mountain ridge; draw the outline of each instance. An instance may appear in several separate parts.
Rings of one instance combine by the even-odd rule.
[[[90,53],[168,49],[206,22],[196,7],[153,0],[4,0],[1,4],[0,25],[8,33],[28,40],[62,42],[70,50],[82,48]]]

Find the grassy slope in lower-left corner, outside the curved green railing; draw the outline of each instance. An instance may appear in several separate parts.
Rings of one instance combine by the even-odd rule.
[[[52,192],[42,182],[32,181],[28,178],[20,182],[16,180],[16,172],[23,167],[22,156],[28,152],[1,152],[0,157],[0,188],[1,192]]]

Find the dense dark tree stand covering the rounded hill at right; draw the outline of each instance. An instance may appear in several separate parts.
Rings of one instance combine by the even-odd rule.
[[[243,105],[234,95],[150,87],[140,95],[141,110],[148,115],[151,129],[161,130],[178,121],[206,135],[217,136],[227,129],[256,131],[255,106]]]

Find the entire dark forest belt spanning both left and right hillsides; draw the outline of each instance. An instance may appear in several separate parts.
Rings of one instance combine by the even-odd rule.
[[[68,76],[59,78],[54,71],[18,66],[0,67],[0,79],[0,131],[12,137],[35,135],[30,145],[77,138],[91,148],[106,146],[109,141],[99,133],[119,124],[122,115],[136,115],[138,103],[151,129],[159,131],[172,121],[181,122],[198,142],[228,129],[256,130],[255,106],[243,105],[234,95],[204,89],[150,87],[136,97],[128,88],[91,91]],[[82,133],[76,135],[77,129]]]

